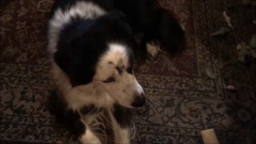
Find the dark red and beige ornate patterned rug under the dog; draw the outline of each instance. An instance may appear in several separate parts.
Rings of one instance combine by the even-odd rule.
[[[256,142],[256,69],[236,59],[236,46],[256,32],[255,7],[239,0],[161,0],[186,29],[187,50],[161,53],[136,70],[146,106],[134,113],[134,143],[202,143],[214,128],[221,143]],[[46,105],[53,89],[46,54],[46,22],[53,0],[0,2],[0,143],[78,142]],[[226,26],[225,38],[211,33]],[[209,76],[209,72],[214,75]],[[238,90],[226,90],[232,84]]]

